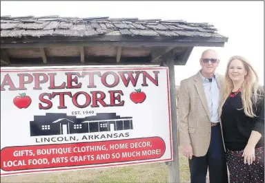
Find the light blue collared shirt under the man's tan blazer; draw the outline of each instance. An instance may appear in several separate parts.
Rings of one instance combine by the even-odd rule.
[[[204,93],[210,111],[210,122],[219,122],[219,87],[215,75],[213,75],[212,82],[210,82],[208,78],[202,76],[200,71],[199,76],[202,78],[202,85],[204,87]]]

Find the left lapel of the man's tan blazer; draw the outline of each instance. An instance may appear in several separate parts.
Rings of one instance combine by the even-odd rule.
[[[206,114],[208,116],[208,118],[210,119],[210,111],[207,105],[207,99],[204,93],[204,87],[202,86],[202,79],[199,76],[199,73],[195,75],[195,87],[197,89],[197,92],[199,94],[199,98],[202,101],[202,105],[204,106],[204,109],[206,111]]]

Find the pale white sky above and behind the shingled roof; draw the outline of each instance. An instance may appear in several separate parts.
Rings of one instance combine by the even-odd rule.
[[[216,50],[219,74],[228,58],[246,57],[264,83],[264,1],[1,1],[1,16],[110,17],[139,19],[183,19],[215,25],[228,36],[224,47],[195,47],[184,66],[175,66],[175,80],[196,74],[199,58],[208,48]]]

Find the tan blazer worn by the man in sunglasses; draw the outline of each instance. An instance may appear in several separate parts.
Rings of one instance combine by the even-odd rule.
[[[223,77],[215,76],[222,96]],[[210,111],[199,72],[181,80],[178,103],[179,144],[191,144],[197,157],[206,155],[210,145]]]

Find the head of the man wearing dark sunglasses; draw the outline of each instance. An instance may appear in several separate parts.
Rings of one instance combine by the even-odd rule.
[[[202,72],[205,74],[215,74],[215,69],[219,65],[219,59],[214,51],[208,51],[202,54],[200,59],[202,65]]]

